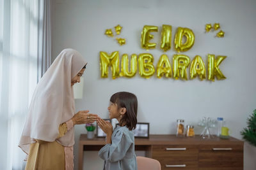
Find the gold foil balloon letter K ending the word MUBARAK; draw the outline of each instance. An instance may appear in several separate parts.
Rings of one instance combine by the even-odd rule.
[[[215,55],[208,54],[208,80],[214,81],[215,76],[218,80],[225,79],[226,77],[220,71],[220,64],[221,62],[226,59],[227,56],[218,55],[217,59],[215,60]]]

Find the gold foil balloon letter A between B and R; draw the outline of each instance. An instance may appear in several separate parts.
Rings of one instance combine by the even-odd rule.
[[[167,55],[163,54],[157,64],[157,78],[161,78],[164,74],[166,78],[172,77],[172,67]]]

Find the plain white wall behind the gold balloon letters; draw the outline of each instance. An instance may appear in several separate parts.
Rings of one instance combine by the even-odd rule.
[[[76,109],[90,110],[100,117],[108,117],[111,94],[129,91],[138,97],[138,122],[150,122],[150,134],[175,133],[175,120],[184,118],[186,124],[197,124],[202,117],[224,117],[232,136],[241,139],[240,131],[246,127],[246,118],[256,108],[256,1],[83,1],[58,0],[54,4],[52,29],[52,59],[63,48],[75,48],[88,61],[84,74],[83,99],[76,101]],[[214,38],[214,32],[204,33],[205,24],[219,22],[224,38]],[[127,41],[119,46],[104,35],[104,31],[122,25],[122,37]],[[226,80],[173,80],[156,78],[100,78],[99,52],[119,51],[151,53],[156,66],[163,50],[159,48],[161,25],[188,27],[195,34],[195,44],[184,52],[192,60],[202,56],[207,65],[207,54],[227,55],[220,69]],[[143,25],[156,25],[152,42],[155,50],[140,46]],[[172,60],[175,50],[166,52]],[[76,127],[75,167],[79,135],[86,133],[83,125]],[[197,131],[200,133],[200,131]],[[88,154],[88,153],[87,153]],[[90,153],[86,169],[102,167],[96,153]],[[244,169],[256,169],[255,147],[244,145]],[[87,159],[86,159],[87,160]],[[100,161],[100,163],[99,163]]]

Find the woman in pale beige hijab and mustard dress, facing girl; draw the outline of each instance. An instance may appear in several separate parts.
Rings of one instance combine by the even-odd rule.
[[[86,64],[79,52],[65,49],[38,82],[19,143],[28,154],[26,169],[74,169],[74,125],[98,118],[89,111],[75,114],[72,86]]]

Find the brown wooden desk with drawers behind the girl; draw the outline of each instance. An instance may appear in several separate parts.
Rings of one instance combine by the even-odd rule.
[[[99,151],[105,138],[79,139],[79,170],[83,169],[84,151]],[[146,157],[159,160],[161,169],[243,169],[243,141],[229,139],[177,138],[171,134],[135,138],[135,150],[144,150]],[[181,168],[180,168],[181,167]]]

